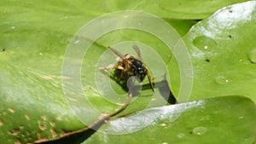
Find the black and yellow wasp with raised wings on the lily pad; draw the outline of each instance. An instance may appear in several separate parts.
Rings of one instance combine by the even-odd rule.
[[[147,76],[150,88],[154,92],[154,86],[151,82],[154,78],[151,78],[148,66],[143,63],[141,51],[137,45],[133,45],[132,48],[136,51],[138,58],[135,55],[130,54],[122,55],[116,49],[108,47],[113,54],[119,56],[117,64],[113,66],[112,78],[124,88],[124,84],[126,84],[128,79],[132,76],[135,76],[139,83],[142,83],[143,79]]]

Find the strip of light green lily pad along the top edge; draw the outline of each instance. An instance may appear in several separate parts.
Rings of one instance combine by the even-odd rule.
[[[143,10],[151,14],[159,15],[162,18],[171,19],[186,19],[186,20],[199,20],[206,18],[218,9],[228,6],[233,3],[245,2],[244,0],[232,0],[232,1],[205,1],[205,0],[160,0],[155,2],[149,1],[109,1],[107,7],[116,10]],[[100,4],[100,3],[99,3]]]

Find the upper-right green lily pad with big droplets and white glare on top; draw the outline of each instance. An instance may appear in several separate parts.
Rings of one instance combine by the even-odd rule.
[[[245,95],[256,101],[256,2],[238,3],[219,10],[193,26],[183,37],[193,62],[190,100],[216,95]],[[177,62],[172,60],[170,71]],[[172,71],[177,94],[179,72]]]

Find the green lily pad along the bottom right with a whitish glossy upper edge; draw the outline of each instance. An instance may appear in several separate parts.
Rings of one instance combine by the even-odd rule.
[[[151,119],[155,119],[154,122],[143,129],[143,124]],[[143,144],[218,144],[220,141],[251,144],[256,135],[256,109],[253,101],[246,97],[216,97],[147,109],[110,121],[102,131],[105,132],[96,132],[83,144],[137,141]]]

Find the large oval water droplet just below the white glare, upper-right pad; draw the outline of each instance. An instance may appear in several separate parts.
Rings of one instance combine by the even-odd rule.
[[[217,46],[217,43],[211,37],[206,36],[195,37],[193,44],[198,49],[207,51],[215,49]]]

